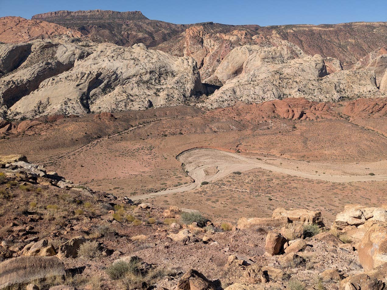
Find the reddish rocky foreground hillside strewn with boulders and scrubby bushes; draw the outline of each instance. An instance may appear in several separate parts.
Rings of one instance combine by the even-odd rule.
[[[210,221],[0,157],[0,288],[383,290],[387,206]],[[259,209],[259,208],[257,208]],[[330,229],[329,229],[330,228]]]

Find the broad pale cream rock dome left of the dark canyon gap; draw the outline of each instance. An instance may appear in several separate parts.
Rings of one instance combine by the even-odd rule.
[[[143,44],[131,48],[99,44],[93,49],[72,70],[46,79],[17,101],[10,116],[146,109],[149,103],[182,104],[203,93],[192,58],[153,51]]]

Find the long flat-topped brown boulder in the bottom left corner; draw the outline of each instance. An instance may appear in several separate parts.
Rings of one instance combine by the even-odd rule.
[[[57,257],[12,258],[0,263],[0,288],[63,275],[65,266]]]

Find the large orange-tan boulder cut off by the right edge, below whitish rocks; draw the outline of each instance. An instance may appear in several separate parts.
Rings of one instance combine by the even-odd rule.
[[[387,222],[375,223],[358,246],[359,262],[365,270],[387,263]]]

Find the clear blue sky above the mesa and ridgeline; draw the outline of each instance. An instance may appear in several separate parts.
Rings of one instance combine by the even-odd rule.
[[[56,10],[140,10],[149,19],[172,23],[333,24],[387,21],[387,0],[0,0],[0,17]]]

